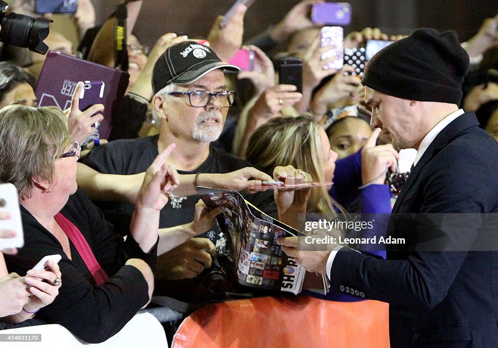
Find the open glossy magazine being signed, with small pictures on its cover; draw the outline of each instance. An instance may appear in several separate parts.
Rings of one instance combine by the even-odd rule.
[[[239,283],[294,294],[301,292],[304,267],[287,257],[276,243],[278,237],[302,235],[299,231],[264,214],[237,191],[198,187],[198,192],[208,207],[226,208],[217,219],[234,246]]]

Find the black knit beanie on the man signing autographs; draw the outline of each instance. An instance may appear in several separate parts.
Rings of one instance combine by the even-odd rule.
[[[468,71],[455,31],[423,28],[377,52],[362,84],[398,98],[459,105]]]

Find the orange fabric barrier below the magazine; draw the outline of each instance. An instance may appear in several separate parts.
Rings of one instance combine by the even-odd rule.
[[[172,348],[388,348],[388,306],[308,296],[209,304],[183,321]]]

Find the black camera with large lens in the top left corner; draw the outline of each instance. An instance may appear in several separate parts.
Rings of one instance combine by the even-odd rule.
[[[48,46],[43,42],[48,36],[48,24],[52,21],[23,14],[6,13],[8,3],[0,1],[0,41],[30,51],[45,54]]]

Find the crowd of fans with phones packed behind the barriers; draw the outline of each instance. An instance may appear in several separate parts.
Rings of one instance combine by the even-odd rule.
[[[33,2],[13,1],[11,9],[36,16]],[[34,90],[45,56],[3,45],[0,183],[13,183],[19,192],[25,245],[0,252],[1,329],[60,324],[99,343],[153,294],[195,308],[248,292],[266,295],[237,285],[230,296],[213,294],[204,286],[204,272],[226,253],[220,246],[227,236],[216,223],[223,208],[209,210],[196,186],[244,190],[254,206],[292,226],[298,213],[333,219],[391,211],[395,195],[385,174],[396,172],[400,149],[371,128],[353,68],[324,69],[330,59],[322,55],[330,47],[321,47],[320,26],[309,19],[317,2],[301,1],[245,43],[247,7],[241,4],[223,28],[223,17],[216,18],[204,35],[209,46],[198,42],[199,33],[166,33],[149,51],[132,34],[142,1],[128,1],[130,78],[116,115],[102,104],[80,111],[82,83],[67,110],[37,107]],[[114,15],[95,27],[91,1],[79,0],[72,18],[81,39],[78,56],[114,68]],[[402,38],[365,28],[348,34],[344,46]],[[50,50],[75,54],[64,32],[51,28],[45,42]],[[460,107],[475,111],[480,127],[498,142],[498,15],[462,47],[471,71]],[[251,71],[228,63],[241,48],[254,54]],[[199,57],[188,54],[193,50]],[[301,91],[278,84],[282,57],[302,59]],[[80,144],[104,117],[113,120],[109,143],[82,152]],[[301,205],[284,206],[283,193],[262,189],[263,180],[274,179],[330,185],[293,191]],[[0,219],[9,216],[0,208]],[[62,260],[31,270],[52,254]],[[373,254],[385,258],[385,251]],[[331,292],[325,299],[352,297]]]

